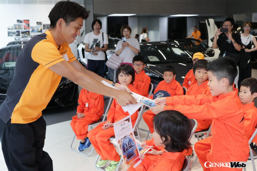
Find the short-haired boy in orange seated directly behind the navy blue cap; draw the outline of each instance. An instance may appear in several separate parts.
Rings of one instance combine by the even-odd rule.
[[[170,96],[183,95],[184,91],[179,82],[176,81],[176,70],[173,66],[169,65],[163,69],[163,81],[161,81],[154,90],[154,94],[159,90],[164,90]],[[151,96],[152,98],[153,96]]]

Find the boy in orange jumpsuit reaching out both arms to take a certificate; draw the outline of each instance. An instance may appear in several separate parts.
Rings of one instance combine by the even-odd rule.
[[[195,143],[195,152],[204,170],[238,170],[227,167],[205,167],[209,162],[245,162],[249,157],[249,144],[245,136],[243,107],[233,88],[237,75],[233,59],[224,57],[208,66],[208,85],[212,96],[174,96],[155,99],[169,106],[150,108],[153,113],[178,110],[188,118],[213,119],[212,136]],[[177,105],[180,104],[180,105]]]

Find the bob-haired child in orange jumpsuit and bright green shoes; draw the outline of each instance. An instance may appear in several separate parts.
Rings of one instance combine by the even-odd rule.
[[[123,64],[118,67],[116,71],[116,78],[117,81],[119,81],[122,85],[128,86],[132,92],[138,93],[138,91],[133,88],[132,85],[133,81],[135,80],[135,72],[132,66]],[[136,122],[137,113],[138,110],[131,115],[132,126],[134,126]],[[95,148],[96,153],[101,156],[101,159],[97,162],[96,167],[104,167],[107,162],[111,161],[105,170],[111,171],[117,168],[121,156],[116,152],[116,149],[109,138],[114,136],[113,123],[128,115],[129,113],[124,112],[122,107],[117,103],[116,99],[113,99],[111,107],[108,111],[107,121],[100,123],[97,127],[89,131],[88,138]]]

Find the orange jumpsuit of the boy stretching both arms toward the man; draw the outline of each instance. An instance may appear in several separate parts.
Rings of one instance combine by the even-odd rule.
[[[249,157],[249,144],[243,122],[243,107],[237,92],[238,90],[234,88],[234,91],[219,96],[166,97],[166,103],[170,106],[164,106],[164,110],[177,110],[189,119],[213,119],[212,136],[196,142],[194,146],[204,170],[210,170],[210,168],[234,170],[225,167],[206,168],[204,163],[207,161],[245,162]]]

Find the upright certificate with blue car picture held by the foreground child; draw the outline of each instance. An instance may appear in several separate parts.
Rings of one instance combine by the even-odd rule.
[[[123,161],[134,168],[138,166],[142,159],[138,145],[136,145],[136,138],[133,132],[131,116],[115,122],[113,124],[115,134],[115,144],[118,146]]]

